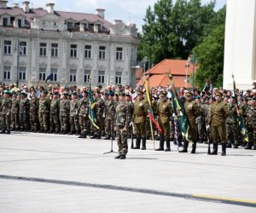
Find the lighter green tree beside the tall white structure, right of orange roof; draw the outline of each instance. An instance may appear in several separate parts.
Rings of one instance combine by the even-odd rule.
[[[223,83],[224,69],[224,25],[216,26],[208,37],[194,50],[199,60],[199,68],[195,72],[195,84],[201,88],[207,79],[213,86],[220,87]]]

